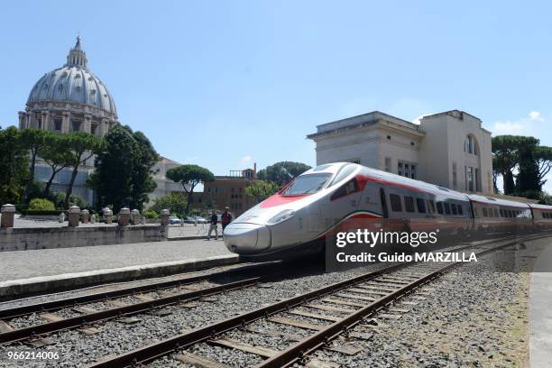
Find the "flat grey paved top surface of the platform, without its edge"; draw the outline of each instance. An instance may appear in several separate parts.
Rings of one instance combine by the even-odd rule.
[[[229,254],[220,238],[3,252],[0,282]]]

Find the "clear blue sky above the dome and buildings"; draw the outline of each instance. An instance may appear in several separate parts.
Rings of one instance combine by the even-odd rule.
[[[552,145],[552,5],[456,3],[5,2],[0,125],[80,32],[120,121],[218,175],[313,165],[317,124],[376,109],[457,108]]]

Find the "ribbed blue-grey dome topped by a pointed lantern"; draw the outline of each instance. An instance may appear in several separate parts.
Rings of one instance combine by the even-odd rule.
[[[87,55],[82,50],[80,37],[77,37],[75,47],[69,51],[65,65],[44,74],[32,87],[27,106],[47,101],[91,106],[116,119],[113,97],[104,82],[87,69]]]

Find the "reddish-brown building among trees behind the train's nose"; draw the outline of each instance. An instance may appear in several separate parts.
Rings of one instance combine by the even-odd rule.
[[[216,176],[215,181],[205,183],[203,192],[194,193],[192,207],[197,209],[216,209],[218,211],[229,207],[232,214],[240,216],[257,204],[255,198],[245,195],[245,189],[256,180],[256,164],[253,169],[230,170],[229,175]]]

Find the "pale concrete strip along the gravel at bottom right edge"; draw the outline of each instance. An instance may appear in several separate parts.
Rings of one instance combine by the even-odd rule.
[[[539,254],[529,288],[529,366],[552,362],[552,244]]]

